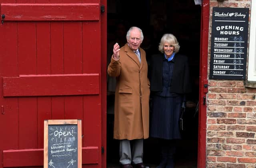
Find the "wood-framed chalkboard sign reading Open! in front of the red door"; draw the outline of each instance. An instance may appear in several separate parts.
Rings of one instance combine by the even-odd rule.
[[[44,168],[82,168],[81,120],[44,121]]]

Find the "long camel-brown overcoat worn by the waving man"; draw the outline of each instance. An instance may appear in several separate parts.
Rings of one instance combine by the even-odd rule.
[[[146,53],[139,50],[141,63],[126,43],[108,65],[108,74],[116,76],[114,139],[148,138],[150,83]]]

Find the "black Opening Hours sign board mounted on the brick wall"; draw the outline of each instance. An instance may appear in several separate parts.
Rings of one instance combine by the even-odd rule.
[[[245,80],[249,8],[212,9],[210,79]]]

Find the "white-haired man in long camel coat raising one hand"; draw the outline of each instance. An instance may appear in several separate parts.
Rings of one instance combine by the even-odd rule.
[[[108,74],[116,76],[114,139],[120,140],[121,168],[144,168],[143,139],[149,132],[149,80],[146,53],[140,48],[142,30],[131,27],[127,43],[113,47]],[[130,141],[133,148],[130,147]]]

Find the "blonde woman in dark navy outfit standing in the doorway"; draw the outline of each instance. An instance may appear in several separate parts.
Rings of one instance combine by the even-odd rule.
[[[162,36],[158,49],[162,54],[152,55],[149,68],[150,137],[160,140],[162,160],[157,168],[174,168],[175,141],[181,139],[180,111],[191,91],[188,58],[178,54],[180,45],[172,34]]]

